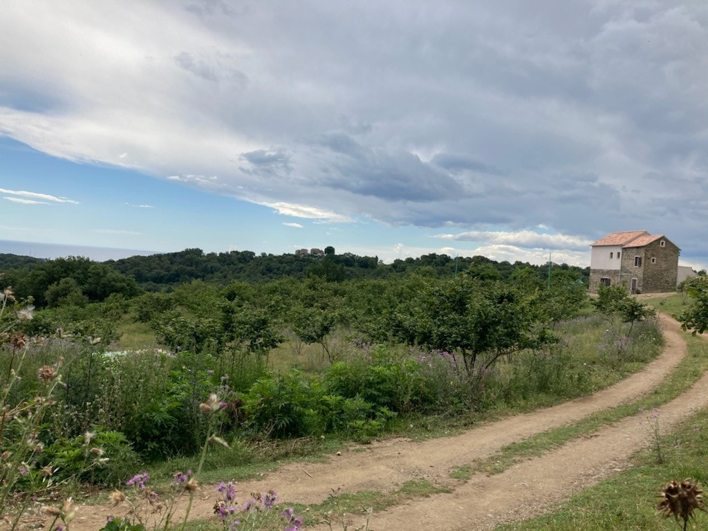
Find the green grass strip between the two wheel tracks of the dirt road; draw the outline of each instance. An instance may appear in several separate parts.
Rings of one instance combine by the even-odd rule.
[[[599,411],[568,426],[547,430],[521,442],[502,447],[495,455],[470,464],[470,472],[499,474],[515,463],[537,457],[564,445],[569,440],[590,435],[601,427],[624,417],[636,415],[642,410],[651,410],[675,399],[708,370],[708,343],[688,334],[685,334],[684,338],[687,341],[687,355],[650,394],[631,404],[622,404],[613,409]]]

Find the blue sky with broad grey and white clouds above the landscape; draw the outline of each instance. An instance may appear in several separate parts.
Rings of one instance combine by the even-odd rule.
[[[6,0],[0,239],[708,266],[704,0]]]

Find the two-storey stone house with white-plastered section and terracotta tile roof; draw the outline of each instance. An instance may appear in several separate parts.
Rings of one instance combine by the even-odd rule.
[[[681,250],[663,234],[613,232],[591,247],[590,293],[602,284],[624,285],[633,294],[676,289]]]

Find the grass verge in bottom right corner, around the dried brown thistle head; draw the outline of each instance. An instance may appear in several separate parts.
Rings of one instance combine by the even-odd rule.
[[[704,488],[708,481],[708,409],[688,418],[660,439],[663,463],[656,449],[636,452],[632,468],[614,474],[578,492],[559,510],[518,523],[499,525],[497,531],[605,531],[677,530],[681,525],[658,512],[659,491],[675,479],[694,479]],[[708,528],[708,514],[696,511],[689,529]]]

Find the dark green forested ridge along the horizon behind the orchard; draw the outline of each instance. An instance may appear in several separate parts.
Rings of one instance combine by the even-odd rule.
[[[336,254],[333,247],[324,251],[302,250],[295,254],[273,255],[253,251],[204,253],[185,249],[175,253],[132,256],[118,261],[93,262],[89,258],[68,257],[42,260],[27,256],[0,254],[0,287],[11,285],[20,297],[33,297],[38,307],[52,306],[57,299],[86,297],[99,302],[111,293],[133,297],[138,292],[166,292],[193,280],[227,285],[229,282],[270,282],[282,278],[303,280],[323,278],[343,282],[364,278],[388,278],[417,273],[433,278],[452,278],[463,271],[486,278],[507,280],[515,271],[531,270],[541,280],[549,278],[549,266],[516,261],[496,262],[484,256],[452,258],[430,253],[419,258],[397,259],[385,264],[376,256]],[[552,270],[572,272],[588,284],[589,268],[552,264]],[[51,289],[50,289],[51,288]],[[48,290],[48,292],[47,292]]]

